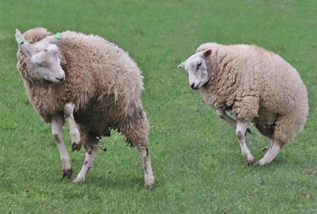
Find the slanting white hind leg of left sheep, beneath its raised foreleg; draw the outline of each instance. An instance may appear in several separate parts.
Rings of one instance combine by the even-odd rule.
[[[85,160],[83,162],[83,167],[81,171],[73,180],[74,183],[84,182],[86,175],[90,169],[92,169],[92,164],[94,164],[94,159],[96,158],[97,148],[96,145],[92,145],[92,147],[85,147]]]

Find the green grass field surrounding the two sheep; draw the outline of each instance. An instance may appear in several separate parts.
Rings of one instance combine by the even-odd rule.
[[[316,14],[315,0],[1,0],[0,213],[317,213]],[[50,126],[16,68],[15,29],[37,26],[99,34],[141,67],[153,189],[143,187],[139,155],[118,133],[101,141],[108,151],[98,152],[85,183],[62,178]],[[176,69],[211,41],[272,50],[307,86],[305,129],[272,164],[248,167],[232,127]],[[269,140],[251,128],[247,143],[259,160]],[[71,151],[67,128],[65,140]],[[70,156],[76,175],[84,153]]]

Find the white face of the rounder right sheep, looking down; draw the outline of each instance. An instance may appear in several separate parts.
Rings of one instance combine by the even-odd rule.
[[[198,52],[187,59],[185,70],[189,74],[190,87],[200,89],[210,80],[206,58],[212,53],[211,50]]]

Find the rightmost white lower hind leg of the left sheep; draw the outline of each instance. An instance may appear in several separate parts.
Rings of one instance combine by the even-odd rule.
[[[139,147],[138,152],[143,163],[145,186],[151,187],[154,184],[154,175],[152,172],[150,151],[145,147]]]

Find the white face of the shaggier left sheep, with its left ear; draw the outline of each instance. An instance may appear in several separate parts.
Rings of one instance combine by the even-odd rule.
[[[42,39],[36,43],[25,41],[19,30],[15,37],[19,43],[19,48],[30,58],[34,69],[46,81],[61,83],[65,79],[65,72],[61,67],[59,49],[57,45],[50,43],[50,38]]]

